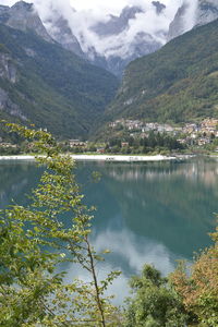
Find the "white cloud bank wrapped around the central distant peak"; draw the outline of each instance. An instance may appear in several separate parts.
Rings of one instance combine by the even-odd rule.
[[[121,56],[129,57],[130,45],[134,43],[136,35],[141,32],[152,35],[158,43],[164,44],[165,39],[159,35],[159,31],[168,31],[169,24],[172,21],[182,0],[166,0],[168,7],[165,14],[157,15],[152,0],[122,0],[122,1],[78,1],[71,0],[74,8],[77,10],[72,19],[69,17],[69,24],[74,35],[80,40],[82,48],[85,52],[89,48],[109,57]],[[123,31],[121,34],[99,37],[92,31],[92,26],[98,22],[107,22],[109,14],[119,15],[122,9],[126,5],[138,5],[144,10],[144,13],[136,14],[134,20],[130,21],[129,29]]]

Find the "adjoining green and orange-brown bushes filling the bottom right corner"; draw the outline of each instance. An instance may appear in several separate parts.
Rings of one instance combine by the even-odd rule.
[[[130,280],[124,327],[217,327],[218,326],[218,228],[215,244],[195,257],[192,266],[180,262],[162,278],[145,265]]]

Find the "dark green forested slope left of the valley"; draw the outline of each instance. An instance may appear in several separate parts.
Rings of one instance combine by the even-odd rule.
[[[1,58],[7,53],[7,64],[16,72],[15,83],[0,76],[0,88],[8,95],[0,117],[26,118],[62,137],[87,137],[93,121],[113,98],[118,80],[33,32],[0,25],[0,40]],[[0,68],[8,69],[3,59]]]

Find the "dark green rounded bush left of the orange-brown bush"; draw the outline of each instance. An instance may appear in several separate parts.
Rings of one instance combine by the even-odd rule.
[[[181,298],[153,266],[145,265],[130,286],[134,295],[128,300],[125,327],[181,327],[187,322]]]

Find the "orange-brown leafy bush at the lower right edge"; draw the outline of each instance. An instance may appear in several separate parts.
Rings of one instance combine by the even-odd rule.
[[[185,310],[195,315],[202,327],[218,326],[218,228],[211,234],[215,244],[202,251],[190,268],[181,263],[170,276]]]

